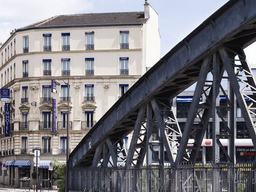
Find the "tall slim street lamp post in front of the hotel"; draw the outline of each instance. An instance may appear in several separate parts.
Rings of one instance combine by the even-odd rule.
[[[68,83],[66,83],[63,79],[59,79],[64,82],[64,84],[68,85],[68,114],[67,114],[67,156],[66,156],[66,186],[65,190],[68,192],[68,182],[69,182],[69,177],[68,177],[68,172],[69,172],[69,167],[68,167],[68,158],[69,158],[69,73],[68,73]],[[55,80],[54,83],[56,85],[60,85],[60,82],[58,80]]]

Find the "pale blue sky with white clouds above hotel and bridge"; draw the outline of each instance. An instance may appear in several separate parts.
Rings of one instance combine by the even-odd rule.
[[[0,42],[10,32],[56,15],[144,11],[145,0],[0,0]],[[161,57],[211,16],[228,0],[148,0],[158,13]],[[253,61],[253,47],[245,52]],[[256,46],[254,46],[256,47]],[[248,51],[247,51],[248,49]]]

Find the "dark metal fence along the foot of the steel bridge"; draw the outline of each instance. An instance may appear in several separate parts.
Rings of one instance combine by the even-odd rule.
[[[252,164],[77,167],[70,176],[76,192],[256,192]]]

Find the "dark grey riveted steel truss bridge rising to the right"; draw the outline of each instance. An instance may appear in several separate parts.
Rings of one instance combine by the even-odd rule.
[[[230,0],[172,48],[104,114],[70,154],[70,170],[78,166],[149,165],[152,154],[164,164],[164,150],[170,165],[184,161],[194,164],[210,118],[212,163],[219,162],[220,151],[234,163],[237,104],[256,146],[256,81],[244,53],[244,48],[255,41],[256,1]],[[208,74],[212,80],[206,80]],[[228,92],[222,87],[222,79],[228,80]],[[172,110],[172,98],[194,83],[196,90],[181,129]],[[220,113],[220,95],[228,102],[228,120]],[[203,103],[202,96],[206,98]],[[198,117],[200,122],[194,124]],[[220,122],[227,130],[225,135],[220,135]],[[130,133],[127,151],[123,139]],[[158,153],[152,147],[152,133],[160,141]],[[229,150],[220,142],[223,136],[228,139]],[[188,147],[191,139],[194,142]]]

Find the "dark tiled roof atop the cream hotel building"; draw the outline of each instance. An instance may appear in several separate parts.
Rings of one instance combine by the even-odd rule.
[[[58,15],[46,20],[25,26],[21,29],[54,26],[81,25],[115,25],[146,23],[144,12],[90,13],[74,15]]]

